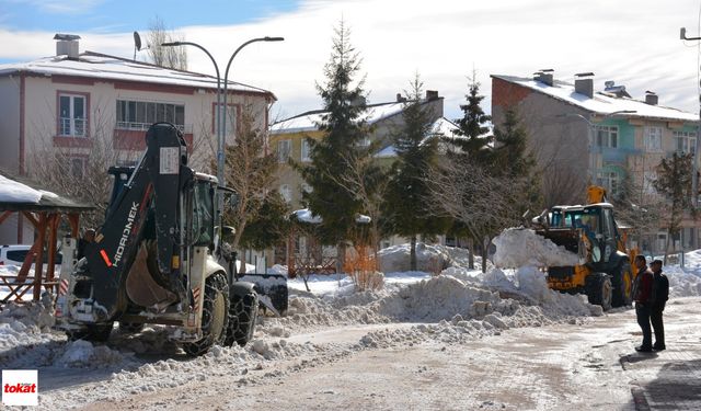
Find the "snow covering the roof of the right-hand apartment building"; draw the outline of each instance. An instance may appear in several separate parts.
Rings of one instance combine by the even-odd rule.
[[[635,113],[620,114],[629,117],[648,117],[660,119],[676,119],[685,122],[698,122],[699,115],[682,112],[677,109],[652,105],[645,102],[629,98],[617,98],[613,94],[596,92],[593,99],[574,91],[574,85],[564,81],[554,80],[553,85],[548,85],[531,78],[492,75],[493,78],[502,79],[514,84],[522,85],[531,90],[539,91],[566,103],[579,106],[584,110],[597,114],[611,114],[620,111],[635,111]]]

